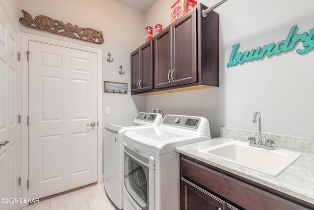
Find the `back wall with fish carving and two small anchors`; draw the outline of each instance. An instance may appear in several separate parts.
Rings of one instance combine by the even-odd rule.
[[[102,30],[103,44],[95,44],[69,38],[46,31],[35,30],[21,25],[22,32],[45,36],[66,42],[103,50],[103,81],[128,83],[130,91],[130,53],[145,38],[144,13],[114,0],[22,0],[19,10],[26,10],[34,19],[45,15],[52,19],[71,23],[83,28]],[[23,17],[23,12],[20,12]],[[107,53],[113,62],[107,62]],[[123,66],[125,75],[118,73]],[[103,90],[102,90],[103,91]],[[111,121],[133,120],[138,111],[144,111],[144,98],[103,93],[103,124]],[[105,115],[105,107],[110,107],[111,115]]]

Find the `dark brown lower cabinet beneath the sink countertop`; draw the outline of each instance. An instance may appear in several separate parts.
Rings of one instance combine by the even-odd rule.
[[[279,196],[219,170],[181,155],[181,210],[313,209],[312,204],[300,199],[281,192]]]

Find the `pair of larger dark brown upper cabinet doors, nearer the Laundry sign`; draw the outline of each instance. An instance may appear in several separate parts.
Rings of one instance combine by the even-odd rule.
[[[155,38],[155,88],[197,82],[196,9]]]

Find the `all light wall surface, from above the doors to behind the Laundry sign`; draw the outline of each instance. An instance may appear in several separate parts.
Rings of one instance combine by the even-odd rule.
[[[13,4],[16,4],[14,1]],[[216,0],[199,0],[207,6]],[[92,44],[21,26],[21,30],[103,50],[103,80],[125,82],[130,90],[130,53],[144,43],[144,28],[170,24],[170,6],[174,0],[157,0],[143,14],[114,0],[20,1],[20,9],[33,18],[46,15],[102,30],[105,42]],[[103,105],[111,108],[109,121],[132,120],[138,111],[164,108],[164,114],[200,115],[210,121],[212,137],[221,126],[256,130],[253,114],[262,114],[262,131],[314,138],[313,52],[298,55],[294,50],[271,58],[227,68],[234,44],[247,51],[284,40],[297,25],[302,33],[314,28],[312,0],[241,0],[226,1],[215,9],[220,15],[220,87],[154,96],[103,93]],[[20,16],[22,13],[20,12]],[[300,45],[299,45],[300,46]],[[114,62],[105,61],[110,52]],[[118,74],[123,65],[125,75]],[[187,96],[187,97],[186,97]]]

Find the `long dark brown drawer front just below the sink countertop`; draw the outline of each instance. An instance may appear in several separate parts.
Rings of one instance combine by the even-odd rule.
[[[296,203],[184,157],[181,157],[181,176],[184,180],[194,183],[195,186],[198,185],[203,189],[208,189],[219,196],[220,199],[230,201],[246,210],[308,210]],[[183,196],[183,194],[181,195]]]

